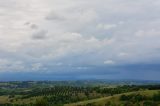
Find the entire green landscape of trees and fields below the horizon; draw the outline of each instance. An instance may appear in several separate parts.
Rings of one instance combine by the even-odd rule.
[[[158,106],[160,85],[1,82],[0,106]],[[80,102],[82,101],[82,102]],[[84,101],[84,102],[83,102]]]

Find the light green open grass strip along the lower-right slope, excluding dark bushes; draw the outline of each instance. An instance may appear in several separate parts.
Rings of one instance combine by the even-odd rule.
[[[104,106],[104,104],[107,101],[112,101],[114,103],[119,103],[119,98],[121,95],[130,95],[130,94],[141,94],[141,95],[146,95],[146,96],[152,96],[155,93],[158,93],[160,90],[145,90],[145,91],[136,91],[136,92],[128,92],[128,93],[123,93],[123,94],[117,94],[114,96],[108,96],[108,97],[103,97],[103,98],[98,98],[98,99],[93,99],[93,100],[87,100],[87,101],[81,101],[77,103],[72,103],[72,104],[65,104],[64,106],[80,106],[80,105],[86,105],[88,103],[95,103],[96,105],[99,106]]]

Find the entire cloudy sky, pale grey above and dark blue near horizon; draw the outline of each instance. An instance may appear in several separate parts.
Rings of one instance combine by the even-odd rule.
[[[0,80],[160,80],[159,0],[0,0]]]

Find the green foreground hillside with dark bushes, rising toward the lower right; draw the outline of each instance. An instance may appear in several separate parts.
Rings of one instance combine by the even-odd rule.
[[[122,95],[126,95],[126,96],[142,95],[142,96],[151,98],[153,97],[153,95],[159,92],[160,90],[145,90],[145,91],[129,92],[129,93],[117,94],[109,97],[103,97],[103,98],[81,101],[81,102],[72,103],[72,104],[66,104],[64,106],[132,106],[132,104],[133,106],[152,106],[152,105],[144,105],[144,103],[149,104],[151,100],[135,101],[135,103],[129,104],[129,100],[121,101],[120,98],[122,97]],[[158,105],[156,104],[157,106],[160,106],[160,101],[156,101],[156,103],[158,104]]]

